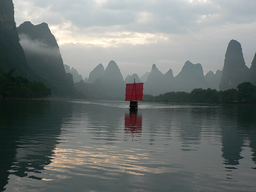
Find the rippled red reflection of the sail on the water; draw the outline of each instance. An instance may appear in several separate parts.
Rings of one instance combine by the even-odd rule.
[[[132,134],[141,134],[142,132],[142,115],[136,111],[126,113],[124,117],[124,131]]]

